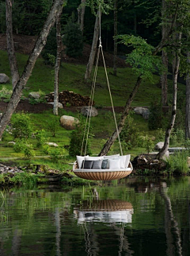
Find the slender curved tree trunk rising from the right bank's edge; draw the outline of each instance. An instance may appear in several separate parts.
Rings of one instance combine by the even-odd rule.
[[[177,35],[177,37],[178,37],[177,41],[180,42],[181,33],[179,33]],[[178,49],[176,51],[175,56],[174,56],[175,66],[173,67],[173,110],[172,110],[172,115],[171,115],[171,119],[169,122],[169,126],[165,131],[164,146],[162,147],[162,149],[160,150],[160,152],[157,155],[158,159],[164,157],[165,153],[167,152],[167,150],[169,148],[169,138],[170,138],[170,134],[173,129],[173,126],[174,126],[175,119],[176,119],[176,114],[177,114],[177,76],[178,76],[179,66],[180,66],[179,54],[180,54],[180,49]]]

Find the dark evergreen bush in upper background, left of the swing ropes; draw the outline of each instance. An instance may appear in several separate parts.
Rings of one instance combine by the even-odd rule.
[[[78,24],[68,21],[64,29],[63,44],[66,45],[65,52],[68,56],[82,56],[83,39],[82,31]]]

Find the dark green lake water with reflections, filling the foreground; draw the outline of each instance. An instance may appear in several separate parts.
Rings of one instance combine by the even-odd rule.
[[[190,255],[190,177],[0,192],[0,255]]]

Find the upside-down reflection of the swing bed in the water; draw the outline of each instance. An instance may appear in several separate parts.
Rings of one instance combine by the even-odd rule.
[[[83,201],[81,208],[74,208],[78,224],[85,222],[131,223],[132,204],[122,200]]]

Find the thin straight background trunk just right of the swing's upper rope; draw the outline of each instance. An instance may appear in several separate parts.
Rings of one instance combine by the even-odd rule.
[[[114,49],[113,49],[113,75],[116,76],[117,68],[117,1],[114,2]]]

